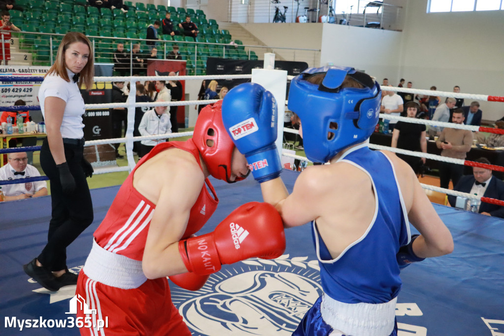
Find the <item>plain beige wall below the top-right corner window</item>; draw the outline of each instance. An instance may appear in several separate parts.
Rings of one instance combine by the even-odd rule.
[[[504,95],[504,11],[427,14],[426,8],[427,0],[408,2],[402,66],[392,83],[402,77],[415,88],[459,85],[465,93]],[[503,103],[479,103],[483,119],[504,116]]]

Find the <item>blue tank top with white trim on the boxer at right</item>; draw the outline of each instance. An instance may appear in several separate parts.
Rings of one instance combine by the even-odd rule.
[[[399,294],[402,284],[396,253],[410,240],[407,212],[392,162],[385,154],[370,150],[367,144],[350,149],[339,161],[351,163],[368,174],[375,212],[362,237],[336,259],[332,259],[312,221],[322,288],[340,302],[389,302]]]

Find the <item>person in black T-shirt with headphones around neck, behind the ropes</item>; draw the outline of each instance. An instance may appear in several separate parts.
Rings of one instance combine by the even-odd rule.
[[[408,102],[406,104],[406,112],[408,114],[408,118],[415,118],[418,112],[418,108],[419,105],[416,102]],[[391,147],[407,149],[414,152],[421,151],[423,153],[427,153],[425,125],[398,121],[394,128],[394,132],[392,133]],[[425,164],[425,157],[419,158],[405,154],[397,154],[397,156],[406,161],[417,175],[420,172],[421,164]]]

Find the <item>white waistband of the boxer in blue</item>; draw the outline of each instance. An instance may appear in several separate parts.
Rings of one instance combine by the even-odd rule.
[[[346,335],[389,336],[394,331],[397,298],[387,303],[344,303],[323,294],[324,321]]]

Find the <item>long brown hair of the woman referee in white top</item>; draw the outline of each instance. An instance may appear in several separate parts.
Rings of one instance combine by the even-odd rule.
[[[67,82],[70,82],[70,78],[68,77],[67,73],[67,65],[65,64],[65,51],[68,49],[70,44],[75,42],[82,42],[89,47],[88,63],[86,63],[86,65],[80,72],[81,76],[79,77],[79,82],[77,83],[79,87],[82,87],[82,85],[84,84],[86,86],[86,90],[89,91],[92,88],[94,82],[94,52],[91,41],[83,33],[71,31],[65,34],[65,36],[61,40],[61,43],[59,43],[58,52],[56,54],[56,61],[49,68],[45,76],[49,74],[56,74]]]

